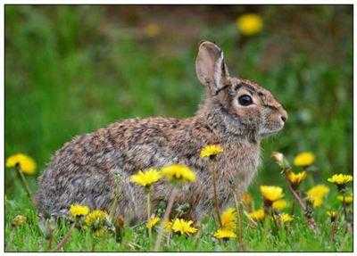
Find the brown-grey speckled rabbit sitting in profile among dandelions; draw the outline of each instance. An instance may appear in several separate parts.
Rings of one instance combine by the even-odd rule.
[[[173,163],[195,171],[195,182],[183,186],[175,200],[188,203],[193,219],[212,212],[212,165],[220,208],[232,202],[233,191],[245,192],[260,163],[262,138],[284,127],[286,111],[270,91],[230,77],[223,52],[212,42],[199,45],[195,71],[205,87],[195,116],[122,120],[63,145],[38,179],[40,216],[65,218],[72,203],[81,203],[128,221],[143,220],[145,191],[129,177]],[[205,145],[221,145],[224,152],[214,163],[201,159]],[[154,185],[154,207],[169,196],[170,184]]]

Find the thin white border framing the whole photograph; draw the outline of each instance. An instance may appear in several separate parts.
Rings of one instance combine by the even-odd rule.
[[[1,89],[0,89],[0,124],[1,129],[2,129],[2,134],[3,136],[0,136],[0,153],[1,153],[1,158],[2,158],[2,175],[1,178],[3,181],[1,182],[1,203],[2,207],[0,210],[1,217],[0,217],[0,227],[2,228],[2,233],[0,234],[0,252],[3,254],[4,253],[4,4],[353,4],[353,12],[354,12],[354,7],[356,5],[356,1],[336,1],[336,0],[325,0],[325,1],[308,1],[308,0],[299,0],[299,1],[278,1],[278,0],[272,0],[272,1],[256,1],[256,0],[251,0],[251,1],[232,1],[232,0],[206,0],[206,1],[187,1],[187,0],[177,0],[177,1],[130,1],[130,0],[121,0],[121,1],[86,1],[86,0],[63,0],[63,1],[44,1],[44,0],[29,0],[29,1],[21,1],[21,0],[12,0],[12,1],[4,1],[1,5],[1,10],[0,10],[0,19],[1,19],[1,28],[0,28],[0,50],[1,50],[1,62],[0,62],[0,78],[1,82]],[[353,13],[354,14],[354,13]],[[356,45],[356,37],[357,37],[357,19],[356,16],[353,15],[353,50]],[[357,91],[356,88],[354,87],[357,84],[357,67],[356,67],[356,55],[354,54],[353,51],[353,99],[357,98]],[[353,100],[353,145],[357,145],[357,138],[355,136],[355,127],[356,127],[356,103]],[[354,146],[353,146],[354,149]],[[356,151],[353,151],[353,176],[356,174],[356,169],[357,169],[357,163],[356,163]],[[353,190],[357,191],[356,189],[357,185],[356,182],[353,183]],[[355,210],[356,202],[353,200],[353,219],[356,219],[356,211]],[[356,225],[353,225],[353,233],[356,234]],[[353,249],[357,250],[357,241],[356,241],[356,236],[353,235]],[[24,241],[26,243],[26,241]],[[6,252],[6,254],[12,254],[16,253],[18,255],[29,255],[29,252]],[[33,252],[31,254],[39,254],[40,252]],[[67,252],[68,253],[68,252]],[[98,252],[70,252],[71,254],[95,254]],[[118,252],[102,252],[101,255],[106,255],[106,254],[112,254],[112,253],[118,253]],[[120,252],[120,254],[125,253],[129,255],[141,255],[142,252]],[[180,252],[180,253],[195,253],[195,255],[207,255],[211,254],[212,252]],[[237,254],[238,252],[217,252],[215,253],[216,255],[223,255],[223,254]],[[241,252],[240,254],[247,254],[246,252]],[[296,253],[296,252],[250,252],[249,255],[262,255],[266,253],[273,253],[274,255],[283,255],[285,253]],[[303,252],[304,254],[309,254],[309,255],[335,255],[336,252]],[[59,255],[61,252],[53,252],[51,255]],[[156,252],[146,252],[147,255],[156,255]],[[173,254],[173,252],[169,252],[169,254]],[[344,254],[349,254],[353,255],[353,252],[345,252]]]

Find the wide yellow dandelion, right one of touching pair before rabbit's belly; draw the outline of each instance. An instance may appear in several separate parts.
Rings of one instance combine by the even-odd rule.
[[[195,172],[183,164],[171,164],[162,168],[162,174],[170,181],[194,182]]]

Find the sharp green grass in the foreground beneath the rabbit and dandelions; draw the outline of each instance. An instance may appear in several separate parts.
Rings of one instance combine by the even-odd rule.
[[[5,251],[6,252],[46,252],[48,241],[37,227],[36,211],[33,210],[25,194],[21,198],[10,200],[6,204],[5,215]],[[24,226],[13,228],[11,220],[15,214],[26,215],[28,223]],[[295,216],[295,220],[274,231],[274,225],[267,219],[258,227],[251,227],[244,219],[243,241],[247,252],[352,252],[353,237],[345,234],[343,222],[336,233],[335,243],[329,239],[331,224],[324,214],[318,214],[316,220],[320,233],[314,235],[306,226],[302,216]],[[162,251],[165,252],[237,252],[237,241],[217,241],[212,237],[216,230],[212,218],[204,219],[198,236],[173,235],[170,242],[164,239]],[[54,231],[54,244],[62,240],[67,233],[69,224],[60,222]],[[95,252],[145,252],[150,251],[154,245],[154,237],[149,239],[145,224],[136,227],[125,227],[120,243],[115,241],[114,235],[94,238],[90,231],[75,229],[69,243],[65,244],[65,252],[90,252],[95,246]],[[26,241],[26,243],[24,243]],[[95,244],[95,245],[94,245]],[[53,247],[54,248],[54,247]]]

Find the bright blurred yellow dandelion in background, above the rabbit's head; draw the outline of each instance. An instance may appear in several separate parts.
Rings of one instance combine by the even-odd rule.
[[[262,17],[258,14],[248,13],[237,19],[237,29],[245,36],[253,36],[262,31]]]

